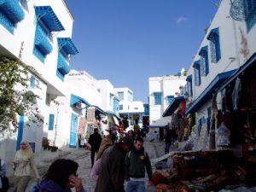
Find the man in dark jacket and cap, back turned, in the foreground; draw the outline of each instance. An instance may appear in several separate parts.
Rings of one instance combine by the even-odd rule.
[[[125,154],[132,145],[130,137],[122,137],[104,151],[95,192],[125,192]]]

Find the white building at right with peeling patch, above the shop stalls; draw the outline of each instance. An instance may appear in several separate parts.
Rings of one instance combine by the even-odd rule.
[[[241,95],[247,91],[244,90],[245,86],[250,90],[246,94],[250,98],[248,99],[250,100],[250,104],[247,106],[248,110],[252,111],[255,108],[255,102],[253,101],[253,98],[255,98],[253,93],[256,52],[256,44],[254,44],[256,38],[255,10],[256,3],[253,0],[234,1],[234,3],[231,3],[230,0],[221,1],[218,11],[195,55],[195,59],[189,67],[186,88],[190,96],[189,103],[192,103],[187,108],[186,114],[195,113],[196,128],[198,132],[203,133],[201,137],[207,137],[207,133],[210,131],[211,115],[213,113],[212,94],[218,95],[218,98],[226,97],[232,100],[236,79],[241,80]],[[246,80],[247,83],[245,84]],[[231,95],[227,96],[229,92]],[[218,110],[222,112],[220,113],[221,119],[218,120],[224,122],[231,130],[233,137],[231,145],[234,147],[237,144],[235,141],[241,140],[242,132],[242,125],[236,120],[246,119],[244,117],[245,113],[242,113],[239,108],[233,108],[234,106],[225,106],[224,109],[222,100],[218,100],[218,102]],[[241,104],[236,105],[239,107]],[[239,115],[234,118],[234,113],[236,115],[239,113]],[[227,120],[228,115],[230,116],[229,120]],[[254,117],[252,113],[250,113],[250,116],[251,118]],[[232,123],[230,124],[230,122]],[[207,130],[205,130],[204,125],[207,125],[205,126]],[[236,127],[237,125],[240,127]],[[213,140],[216,139],[217,145],[217,136],[212,136]],[[211,139],[205,139],[206,143],[201,143],[199,149],[209,148]],[[242,142],[240,141],[240,143]],[[212,146],[211,148],[215,147]]]

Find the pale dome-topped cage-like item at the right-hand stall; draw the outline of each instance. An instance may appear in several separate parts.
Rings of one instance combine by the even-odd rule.
[[[227,147],[230,145],[230,130],[221,123],[217,129],[217,145]]]

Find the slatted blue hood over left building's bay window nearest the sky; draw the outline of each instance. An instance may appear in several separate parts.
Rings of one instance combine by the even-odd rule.
[[[67,55],[76,55],[79,53],[71,38],[58,38],[58,45],[59,49],[63,49]]]

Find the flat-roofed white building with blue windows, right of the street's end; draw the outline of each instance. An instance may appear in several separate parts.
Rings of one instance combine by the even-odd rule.
[[[149,127],[165,127],[171,122],[170,117],[162,118],[162,114],[178,96],[186,84],[186,76],[165,75],[163,77],[151,77],[149,85]]]

